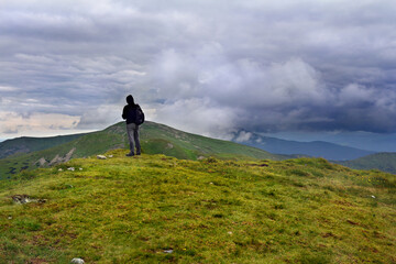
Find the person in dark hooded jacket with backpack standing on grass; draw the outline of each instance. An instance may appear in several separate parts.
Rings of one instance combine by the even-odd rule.
[[[127,133],[130,143],[130,153],[127,156],[134,156],[134,145],[136,145],[136,155],[141,154],[141,145],[139,140],[139,125],[144,122],[144,113],[141,107],[134,103],[133,97],[127,97],[128,105],[122,111],[122,118],[127,119]]]

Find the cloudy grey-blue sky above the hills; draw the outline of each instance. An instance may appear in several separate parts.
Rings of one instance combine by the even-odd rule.
[[[147,120],[219,139],[396,139],[395,13],[394,0],[0,0],[0,139],[105,129],[130,94]]]

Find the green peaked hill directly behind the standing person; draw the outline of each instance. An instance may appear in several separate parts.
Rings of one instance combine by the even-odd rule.
[[[243,160],[286,158],[286,156],[271,154],[258,148],[190,134],[148,121],[141,127],[140,134],[142,152],[145,154],[165,154],[185,160],[198,160],[207,156]],[[128,147],[125,124],[120,122],[102,131],[87,133],[76,140],[43,151],[2,158],[0,160],[0,179],[9,178],[22,169],[51,166],[74,157]]]

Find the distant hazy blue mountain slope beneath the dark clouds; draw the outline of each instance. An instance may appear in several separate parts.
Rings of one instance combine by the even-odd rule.
[[[240,138],[237,136],[234,141],[241,144],[258,147],[261,150],[277,154],[304,154],[308,156],[323,157],[332,161],[353,160],[369,154],[373,154],[373,152],[370,151],[342,146],[323,141],[298,142],[262,136],[250,132],[243,133],[244,135],[249,134],[249,140],[238,141]],[[239,134],[241,134],[241,132]]]

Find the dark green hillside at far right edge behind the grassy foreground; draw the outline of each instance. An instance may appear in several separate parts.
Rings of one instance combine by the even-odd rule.
[[[376,153],[353,161],[340,162],[340,164],[356,169],[376,168],[383,172],[396,174],[396,153]]]

